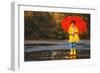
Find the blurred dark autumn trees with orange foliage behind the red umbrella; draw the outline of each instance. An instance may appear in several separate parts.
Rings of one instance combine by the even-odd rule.
[[[73,13],[58,13],[58,12],[37,12],[25,11],[24,12],[24,34],[25,40],[36,39],[67,39],[68,34],[62,30],[61,21],[68,15],[77,15]],[[88,23],[90,29],[90,15],[81,15]],[[85,35],[89,35],[88,30]],[[85,36],[81,35],[81,36]],[[84,37],[82,37],[84,38]]]

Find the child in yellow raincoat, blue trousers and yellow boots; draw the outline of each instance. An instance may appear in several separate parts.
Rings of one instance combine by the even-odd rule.
[[[75,21],[71,21],[71,25],[68,29],[69,44],[70,44],[70,55],[76,55],[76,43],[79,42],[79,31],[75,25]]]

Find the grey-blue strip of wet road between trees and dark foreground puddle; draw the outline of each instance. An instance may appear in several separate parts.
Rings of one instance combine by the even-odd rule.
[[[77,49],[90,49],[89,44],[89,40],[81,40],[77,43]],[[33,41],[30,44],[25,44],[25,52],[61,49],[70,49],[67,41]]]

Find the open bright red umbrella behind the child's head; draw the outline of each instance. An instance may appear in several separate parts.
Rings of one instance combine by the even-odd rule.
[[[87,22],[80,16],[67,16],[62,20],[62,28],[68,32],[71,22],[75,21],[75,25],[79,30],[79,33],[87,31]]]

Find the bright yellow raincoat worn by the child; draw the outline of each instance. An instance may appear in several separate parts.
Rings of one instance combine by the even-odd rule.
[[[69,42],[79,42],[79,36],[78,36],[78,28],[70,26],[68,29],[69,33]]]

